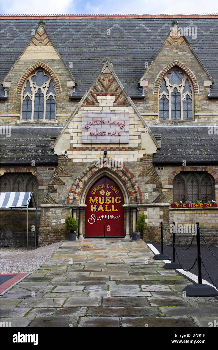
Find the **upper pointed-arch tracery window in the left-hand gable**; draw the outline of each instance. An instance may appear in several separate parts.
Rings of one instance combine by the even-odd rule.
[[[43,70],[31,74],[23,86],[22,120],[55,119],[56,91],[51,76]]]

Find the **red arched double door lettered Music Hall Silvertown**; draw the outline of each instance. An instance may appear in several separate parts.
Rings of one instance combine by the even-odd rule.
[[[85,237],[124,237],[124,196],[114,181],[98,180],[85,204]]]

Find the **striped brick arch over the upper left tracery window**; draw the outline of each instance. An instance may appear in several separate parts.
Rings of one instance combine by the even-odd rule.
[[[54,80],[55,83],[55,87],[56,87],[56,92],[57,94],[61,93],[61,82],[58,78],[58,76],[56,75],[55,71],[53,69],[51,69],[47,64],[38,61],[36,63],[34,63],[33,65],[31,65],[22,75],[22,77],[19,79],[19,82],[17,84],[17,88],[16,88],[16,93],[18,95],[21,95],[22,93],[22,89],[23,89],[23,85],[26,82],[28,76],[33,73],[33,71],[35,69],[37,69],[38,67],[42,67],[45,71],[47,71],[50,76],[52,77],[52,79]]]

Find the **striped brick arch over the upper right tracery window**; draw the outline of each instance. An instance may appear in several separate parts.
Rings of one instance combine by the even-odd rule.
[[[193,89],[194,89],[194,93],[199,93],[199,86],[198,86],[197,79],[196,79],[194,73],[187,67],[187,65],[185,65],[184,63],[181,63],[181,62],[179,62],[177,60],[169,63],[164,69],[162,69],[160,71],[159,75],[157,76],[157,78],[155,80],[154,93],[159,93],[159,87],[160,87],[160,83],[161,83],[161,80],[162,80],[163,76],[168,72],[168,70],[170,70],[174,66],[178,66],[179,68],[184,70],[184,72],[191,79],[191,82],[192,82],[192,85],[193,85]]]

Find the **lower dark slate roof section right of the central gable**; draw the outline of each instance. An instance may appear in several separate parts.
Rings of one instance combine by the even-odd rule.
[[[208,133],[210,126],[149,126],[161,134],[161,149],[153,163],[218,163],[218,135]]]

